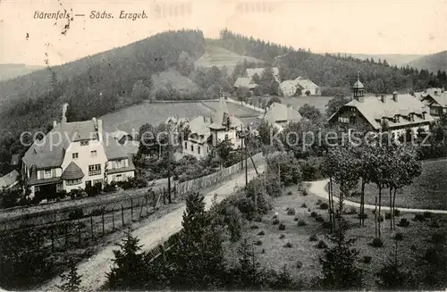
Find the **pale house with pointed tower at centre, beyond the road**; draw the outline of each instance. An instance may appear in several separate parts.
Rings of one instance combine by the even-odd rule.
[[[232,142],[234,149],[240,147],[240,130],[242,122],[230,115],[225,98],[221,94],[214,117],[198,116],[189,123],[190,135],[183,141],[183,154],[190,154],[198,159],[210,153],[225,138]]]

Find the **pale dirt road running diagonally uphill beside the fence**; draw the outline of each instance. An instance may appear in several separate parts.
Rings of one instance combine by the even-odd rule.
[[[257,166],[259,173],[265,169],[264,163]],[[255,170],[249,170],[249,180],[256,177]],[[206,208],[211,205],[213,196],[217,194],[217,201],[220,202],[223,198],[230,196],[235,188],[240,188],[245,185],[245,173],[240,173],[232,177],[232,179],[224,181],[220,187],[215,188],[205,195]],[[169,238],[175,232],[181,229],[181,219],[185,205],[168,213],[163,217],[149,222],[147,225],[135,229],[132,234],[138,237],[143,245],[143,250],[148,251],[156,247],[164,240]],[[81,291],[97,291],[105,284],[105,273],[110,271],[111,260],[114,257],[113,251],[117,247],[114,245],[105,246],[100,252],[78,265],[78,271],[82,275]],[[60,278],[52,279],[44,286],[38,288],[39,291],[58,291],[55,285],[60,284]]]

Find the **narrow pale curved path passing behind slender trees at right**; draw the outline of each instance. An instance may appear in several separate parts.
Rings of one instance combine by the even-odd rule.
[[[308,188],[308,191],[310,193],[312,193],[315,196],[320,196],[322,198],[327,199],[328,194],[327,191],[325,190],[325,187],[327,185],[327,183],[329,182],[329,179],[322,179],[322,180],[316,180],[316,181],[309,181],[308,183],[310,184],[310,188]],[[338,203],[338,197],[337,196],[333,196],[333,204]],[[353,207],[360,207],[359,203],[356,202],[352,202],[349,200],[343,200],[343,204],[344,205],[349,205],[349,206],[353,206]],[[371,209],[374,210],[375,209],[375,205],[374,204],[365,204],[365,209]],[[390,207],[389,206],[382,206],[382,210],[384,210],[384,212],[386,211],[390,211]],[[411,209],[411,208],[401,208],[399,207],[399,210],[401,212],[409,212],[409,213],[424,213],[424,212],[430,212],[430,213],[438,213],[438,214],[447,214],[447,210],[432,210],[432,209]]]

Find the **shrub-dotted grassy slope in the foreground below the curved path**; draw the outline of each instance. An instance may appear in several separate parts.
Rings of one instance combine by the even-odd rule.
[[[244,227],[243,238],[249,238],[249,240],[255,243],[255,252],[262,266],[280,271],[285,264],[293,277],[299,277],[308,282],[310,279],[321,275],[318,258],[323,254],[323,249],[316,247],[318,241],[324,240],[326,244],[329,244],[329,241],[325,238],[327,229],[324,229],[321,223],[316,222],[310,216],[310,213],[316,212],[321,214],[325,221],[328,221],[328,213],[320,209],[316,196],[302,196],[296,187],[286,189],[284,194],[287,194],[289,190],[291,190],[292,195],[275,198],[273,202],[274,209],[266,214],[261,222],[251,221]],[[301,207],[302,204],[306,204],[306,207]],[[288,215],[287,208],[294,208],[295,215]],[[278,219],[285,225],[284,230],[280,230],[278,228],[279,225],[273,224],[275,212],[279,213]],[[358,219],[355,214],[345,214],[344,218],[350,224],[350,229],[347,231],[348,237],[357,238],[354,246],[359,251],[358,265],[365,271],[363,279],[367,284],[367,288],[374,289],[375,272],[380,270],[384,260],[392,252],[394,240],[388,228],[388,220],[386,220],[383,224],[384,247],[376,248],[369,246],[368,244],[375,237],[375,224],[373,213],[367,211],[367,215],[365,227],[358,226]],[[421,254],[428,247],[426,240],[430,240],[434,233],[441,232],[445,234],[447,216],[433,216],[436,216],[435,218],[439,220],[440,228],[429,227],[428,221],[411,221],[414,217],[411,213],[401,213],[401,217],[397,218],[397,221],[400,218],[406,218],[410,221],[408,228],[396,227],[396,231],[403,234],[403,240],[399,242],[400,260],[404,265],[413,268],[413,271],[414,267],[411,264],[413,264],[416,254],[411,250],[416,248],[418,253]],[[298,226],[296,218],[299,221],[305,221],[307,225]],[[264,235],[259,235],[260,231],[263,231]],[[309,240],[313,235],[318,238],[317,241]],[[288,243],[291,244],[291,247],[286,246]],[[236,251],[239,245],[240,242],[232,244],[227,242],[225,244],[226,258],[230,263],[237,261]],[[370,263],[363,263],[362,259],[365,255],[372,257]],[[302,263],[300,268],[298,268],[299,262]]]

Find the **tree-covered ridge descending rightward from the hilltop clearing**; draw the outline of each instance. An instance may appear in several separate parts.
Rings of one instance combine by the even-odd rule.
[[[223,29],[220,46],[238,54],[246,54],[280,67],[282,79],[308,77],[324,87],[347,87],[357,79],[372,93],[391,93],[394,90],[417,91],[428,87],[447,85],[445,72],[432,74],[427,70],[410,67],[398,68],[386,60],[374,62],[351,56],[314,54],[308,50],[271,44],[260,39],[247,38]]]

